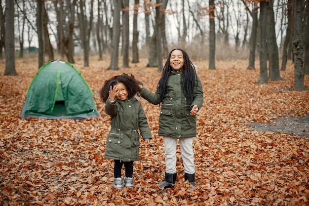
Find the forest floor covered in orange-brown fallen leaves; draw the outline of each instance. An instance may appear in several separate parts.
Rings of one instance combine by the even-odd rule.
[[[165,165],[158,136],[159,106],[141,99],[154,139],[141,142],[134,163],[135,188],[112,188],[113,162],[104,158],[109,117],[98,90],[115,74],[132,73],[155,91],[160,73],[147,60],[121,71],[106,71],[109,60],[75,67],[94,92],[102,117],[79,120],[20,119],[27,88],[37,72],[36,58],[16,60],[18,76],[3,76],[0,61],[0,205],[3,206],[228,206],[309,205],[309,141],[287,132],[254,130],[274,119],[309,113],[309,90],[294,91],[293,66],[285,81],[256,84],[259,70],[246,61],[194,62],[203,83],[204,104],[194,139],[196,186],[184,182],[180,150],[178,180],[160,189]],[[119,64],[121,65],[121,64]],[[305,77],[309,87],[309,77]]]

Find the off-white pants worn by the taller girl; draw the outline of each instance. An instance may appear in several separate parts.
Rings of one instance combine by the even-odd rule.
[[[164,136],[164,157],[166,173],[175,174],[176,173],[176,145],[177,139],[174,137]],[[194,154],[193,154],[193,137],[180,138],[180,151],[183,159],[185,173],[193,174],[194,170]]]

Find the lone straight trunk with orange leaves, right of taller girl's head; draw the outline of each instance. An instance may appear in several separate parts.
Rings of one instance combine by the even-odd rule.
[[[215,0],[209,0],[209,68],[216,69]]]

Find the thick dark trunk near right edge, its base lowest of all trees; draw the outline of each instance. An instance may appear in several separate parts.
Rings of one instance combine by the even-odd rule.
[[[294,89],[304,89],[304,68],[303,68],[303,12],[301,0],[293,0],[293,11],[295,19],[294,27]]]

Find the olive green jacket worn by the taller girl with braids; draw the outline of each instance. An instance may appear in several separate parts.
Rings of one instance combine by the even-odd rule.
[[[189,105],[183,92],[181,71],[171,71],[166,92],[161,104],[159,117],[159,135],[175,138],[196,136],[196,116],[190,115],[193,105],[198,109],[203,104],[202,84],[195,76],[193,102]],[[141,96],[152,104],[159,104],[159,90],[152,93],[145,87]]]

